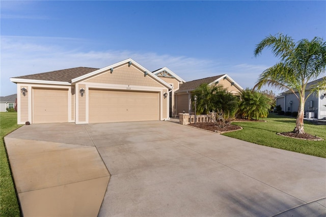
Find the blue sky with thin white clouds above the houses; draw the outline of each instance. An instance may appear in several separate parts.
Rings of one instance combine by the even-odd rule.
[[[269,34],[326,39],[325,1],[1,1],[1,96],[9,78],[132,58],[189,81],[227,73],[252,88],[277,63]],[[263,88],[269,89],[268,87]],[[274,90],[275,91],[275,90]],[[280,91],[275,91],[279,93]]]

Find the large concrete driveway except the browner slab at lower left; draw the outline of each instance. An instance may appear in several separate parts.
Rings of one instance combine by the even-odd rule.
[[[10,158],[17,139],[96,148],[111,174],[99,216],[326,214],[325,158],[167,121],[23,126]]]

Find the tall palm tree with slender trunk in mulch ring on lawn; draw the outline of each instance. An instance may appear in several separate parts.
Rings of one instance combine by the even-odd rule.
[[[306,96],[305,91],[309,82],[325,73],[326,43],[318,37],[311,41],[302,39],[295,43],[287,35],[269,35],[256,45],[255,57],[266,47],[271,48],[271,52],[280,58],[280,62],[263,71],[254,88],[260,89],[267,85],[292,92],[299,102],[293,132],[305,133],[304,106],[307,98],[313,93],[311,91]],[[326,80],[322,85],[325,84]]]

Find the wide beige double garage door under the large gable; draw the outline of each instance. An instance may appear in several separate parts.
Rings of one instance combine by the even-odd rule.
[[[158,93],[89,91],[89,122],[159,120]]]

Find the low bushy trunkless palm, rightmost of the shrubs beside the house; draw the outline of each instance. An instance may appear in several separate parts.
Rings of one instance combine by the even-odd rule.
[[[267,117],[272,100],[265,94],[246,89],[241,92],[240,98],[238,114],[243,118],[259,120]]]

